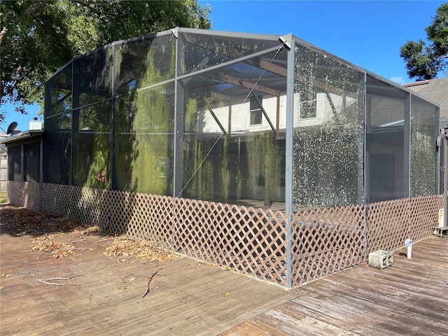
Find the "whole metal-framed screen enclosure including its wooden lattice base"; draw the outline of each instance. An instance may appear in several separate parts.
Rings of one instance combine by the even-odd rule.
[[[438,125],[291,34],[176,28],[48,80],[43,203],[290,287],[431,234]]]

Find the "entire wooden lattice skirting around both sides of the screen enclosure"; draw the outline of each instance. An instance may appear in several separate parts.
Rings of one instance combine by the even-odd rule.
[[[372,251],[394,251],[407,238],[429,237],[443,207],[443,196],[433,195],[367,209],[359,204],[286,214],[115,190],[39,187],[10,181],[10,203],[153,239],[172,251],[286,287],[365,262]]]

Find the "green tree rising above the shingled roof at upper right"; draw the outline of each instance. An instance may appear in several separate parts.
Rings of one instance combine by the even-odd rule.
[[[407,41],[400,48],[407,74],[416,80],[435,78],[448,66],[448,3],[437,8],[431,25],[426,27],[428,41]]]

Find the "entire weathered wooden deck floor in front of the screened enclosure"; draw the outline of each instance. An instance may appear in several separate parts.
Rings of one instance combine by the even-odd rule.
[[[2,336],[448,335],[447,237],[414,244],[412,260],[397,251],[391,267],[358,265],[286,291],[188,258],[120,262],[95,234],[65,232],[77,255],[54,258],[31,251],[43,228],[1,221]],[[70,280],[37,281],[54,277]]]

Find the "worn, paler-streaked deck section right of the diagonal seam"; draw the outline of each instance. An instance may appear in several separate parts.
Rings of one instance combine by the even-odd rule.
[[[393,265],[358,265],[292,290],[293,300],[233,335],[448,335],[448,238],[396,251]]]

